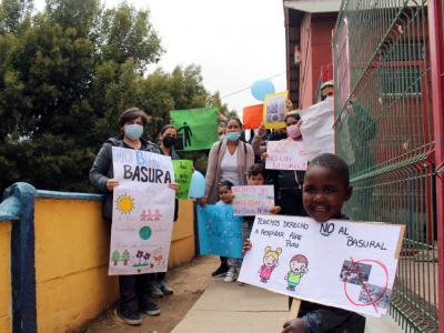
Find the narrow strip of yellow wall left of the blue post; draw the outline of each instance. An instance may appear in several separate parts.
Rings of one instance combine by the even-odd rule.
[[[11,329],[11,223],[0,222],[0,332]]]

